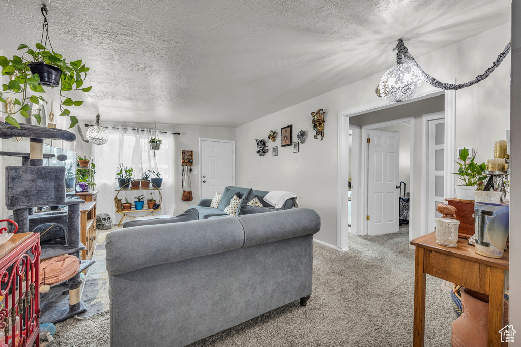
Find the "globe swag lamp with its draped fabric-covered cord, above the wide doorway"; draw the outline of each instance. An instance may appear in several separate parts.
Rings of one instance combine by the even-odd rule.
[[[407,47],[405,47],[402,38],[398,40],[396,50],[398,51],[396,52],[396,66],[383,74],[380,83],[376,87],[376,95],[378,97],[392,102],[400,102],[412,98],[421,86],[421,80],[445,91],[458,91],[479,83],[485,80],[505,59],[510,52],[510,43],[505,46],[503,52],[498,55],[498,58],[492,63],[490,68],[478,75],[474,80],[462,84],[440,82],[421,69],[411,53],[409,53]]]

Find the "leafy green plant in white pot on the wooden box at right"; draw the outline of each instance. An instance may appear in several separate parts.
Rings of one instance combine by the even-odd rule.
[[[485,162],[476,164],[474,162],[476,156],[472,157],[469,162],[467,162],[467,158],[468,151],[463,148],[460,154],[461,162],[456,160],[460,169],[454,173],[454,175],[460,176],[458,178],[463,183],[463,185],[456,185],[456,197],[463,200],[474,200],[474,190],[476,190],[478,182],[485,181],[488,178],[488,176],[483,175],[483,172],[487,170],[487,164]]]

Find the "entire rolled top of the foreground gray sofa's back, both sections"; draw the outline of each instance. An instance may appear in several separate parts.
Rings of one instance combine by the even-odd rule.
[[[107,235],[107,271],[115,276],[148,266],[312,235],[319,229],[320,217],[311,209],[124,228]]]

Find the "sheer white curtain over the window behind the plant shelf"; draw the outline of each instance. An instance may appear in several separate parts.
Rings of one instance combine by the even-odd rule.
[[[116,180],[116,172],[118,163],[123,166],[132,166],[134,169],[134,178],[141,179],[141,175],[148,170],[161,173],[163,178],[163,185],[161,187],[161,194],[163,201],[161,210],[157,214],[171,214],[173,215],[174,205],[174,148],[173,148],[173,134],[171,132],[160,133],[159,138],[163,140],[161,148],[154,152],[148,146],[151,130],[147,128],[137,128],[132,130],[128,127],[127,130],[123,126],[114,128],[112,125],[108,127],[108,141],[105,145],[93,145],[92,157],[96,164],[96,190],[97,194],[97,213],[108,213],[113,223],[117,224],[121,215],[116,213],[116,206],[114,198],[116,196],[116,189],[118,182]],[[159,200],[159,196],[154,190],[131,190],[120,192],[118,199],[128,198],[129,202],[134,201],[134,197],[141,194],[145,198],[150,198],[150,192],[154,192],[154,199]],[[139,216],[145,215],[145,212],[133,213]]]

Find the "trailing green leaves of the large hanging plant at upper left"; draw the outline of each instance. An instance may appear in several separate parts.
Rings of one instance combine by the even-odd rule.
[[[60,84],[58,87],[61,112],[59,115],[69,117],[69,128],[71,128],[78,124],[78,118],[72,115],[71,111],[66,107],[81,106],[83,101],[72,100],[72,98],[66,97],[64,93],[70,91],[90,92],[92,86],[83,87],[89,68],[86,67],[81,60],[67,62],[63,59],[61,54],[54,52],[54,50],[47,50],[47,48],[41,43],[37,43],[35,48],[36,49],[31,49],[26,44],[21,44],[18,47],[18,50],[26,49],[26,52],[23,52],[21,57],[15,55],[13,56],[13,59],[8,59],[7,57],[0,56],[2,75],[15,76],[8,84],[2,84],[3,91],[0,92],[0,102],[7,104],[5,95],[7,94],[7,96],[9,96],[9,94],[13,94],[17,96],[14,97],[13,103],[14,105],[19,106],[18,110],[12,113],[0,112],[7,113],[7,116],[5,117],[7,123],[20,127],[20,124],[13,117],[14,114],[20,113],[22,117],[29,118],[31,117],[31,114],[29,113],[31,105],[29,102],[32,102],[33,104],[40,104],[40,101],[47,102],[42,95],[37,95],[45,93],[45,89],[39,84],[40,76],[38,73],[31,74],[31,70],[29,69],[29,64],[31,62],[41,62],[58,67],[61,70]],[[40,124],[42,119],[41,115],[32,115],[36,121],[38,121],[38,124]]]

